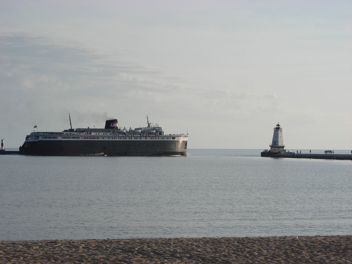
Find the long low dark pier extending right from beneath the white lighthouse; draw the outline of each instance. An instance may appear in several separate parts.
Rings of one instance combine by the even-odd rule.
[[[263,151],[260,153],[261,157],[272,158],[304,158],[304,159],[350,159],[352,154],[302,154],[295,152],[271,152]]]

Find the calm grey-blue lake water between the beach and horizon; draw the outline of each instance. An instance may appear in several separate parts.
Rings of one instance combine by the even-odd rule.
[[[352,234],[351,161],[260,151],[0,155],[0,240]]]

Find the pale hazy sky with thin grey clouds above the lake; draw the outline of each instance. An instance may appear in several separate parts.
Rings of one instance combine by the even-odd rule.
[[[146,126],[189,149],[352,149],[352,2],[0,0],[0,138]]]

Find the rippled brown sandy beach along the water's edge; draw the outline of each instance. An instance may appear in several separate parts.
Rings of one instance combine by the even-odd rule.
[[[352,263],[352,235],[0,241],[0,263]]]

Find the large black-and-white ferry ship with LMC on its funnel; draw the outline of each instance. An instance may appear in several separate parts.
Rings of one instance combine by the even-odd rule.
[[[188,134],[165,134],[159,125],[121,129],[117,119],[104,128],[71,128],[62,132],[32,132],[20,154],[48,156],[171,156],[186,155]]]

